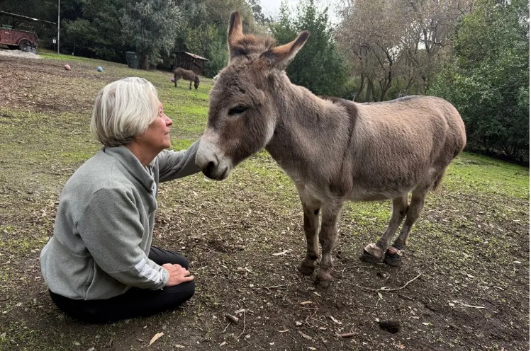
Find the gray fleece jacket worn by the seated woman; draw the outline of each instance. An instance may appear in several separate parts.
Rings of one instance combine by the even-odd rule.
[[[150,260],[159,182],[197,173],[199,142],[162,151],[144,167],[125,147],[104,147],[65,184],[52,238],[40,253],[48,288],[70,299],[108,299],[130,287],[162,289]]]

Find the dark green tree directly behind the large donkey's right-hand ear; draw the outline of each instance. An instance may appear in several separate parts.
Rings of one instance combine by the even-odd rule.
[[[291,42],[302,30],[308,30],[310,38],[289,64],[286,74],[294,84],[305,86],[315,94],[343,96],[347,70],[332,40],[327,11],[328,8],[318,11],[314,0],[303,0],[298,6],[298,16],[292,18],[284,2],[279,21],[272,23],[270,29],[279,44]]]

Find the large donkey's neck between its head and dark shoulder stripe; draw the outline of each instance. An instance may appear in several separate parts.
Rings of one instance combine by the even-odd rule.
[[[278,119],[266,150],[295,180],[315,172],[322,175],[317,165],[341,161],[328,155],[345,153],[353,117],[337,101],[319,98],[287,78],[281,83],[274,89]]]

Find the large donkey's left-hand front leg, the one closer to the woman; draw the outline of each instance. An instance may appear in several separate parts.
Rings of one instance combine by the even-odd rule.
[[[319,229],[319,210],[321,203],[309,196],[303,190],[303,186],[298,188],[299,197],[303,205],[304,212],[304,234],[306,234],[306,257],[298,270],[303,275],[311,275],[315,269],[313,263],[319,257],[319,243],[317,231]]]

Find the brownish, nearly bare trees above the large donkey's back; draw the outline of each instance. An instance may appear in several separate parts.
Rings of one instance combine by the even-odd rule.
[[[357,78],[357,101],[422,94],[444,62],[470,0],[347,0],[337,41]]]

